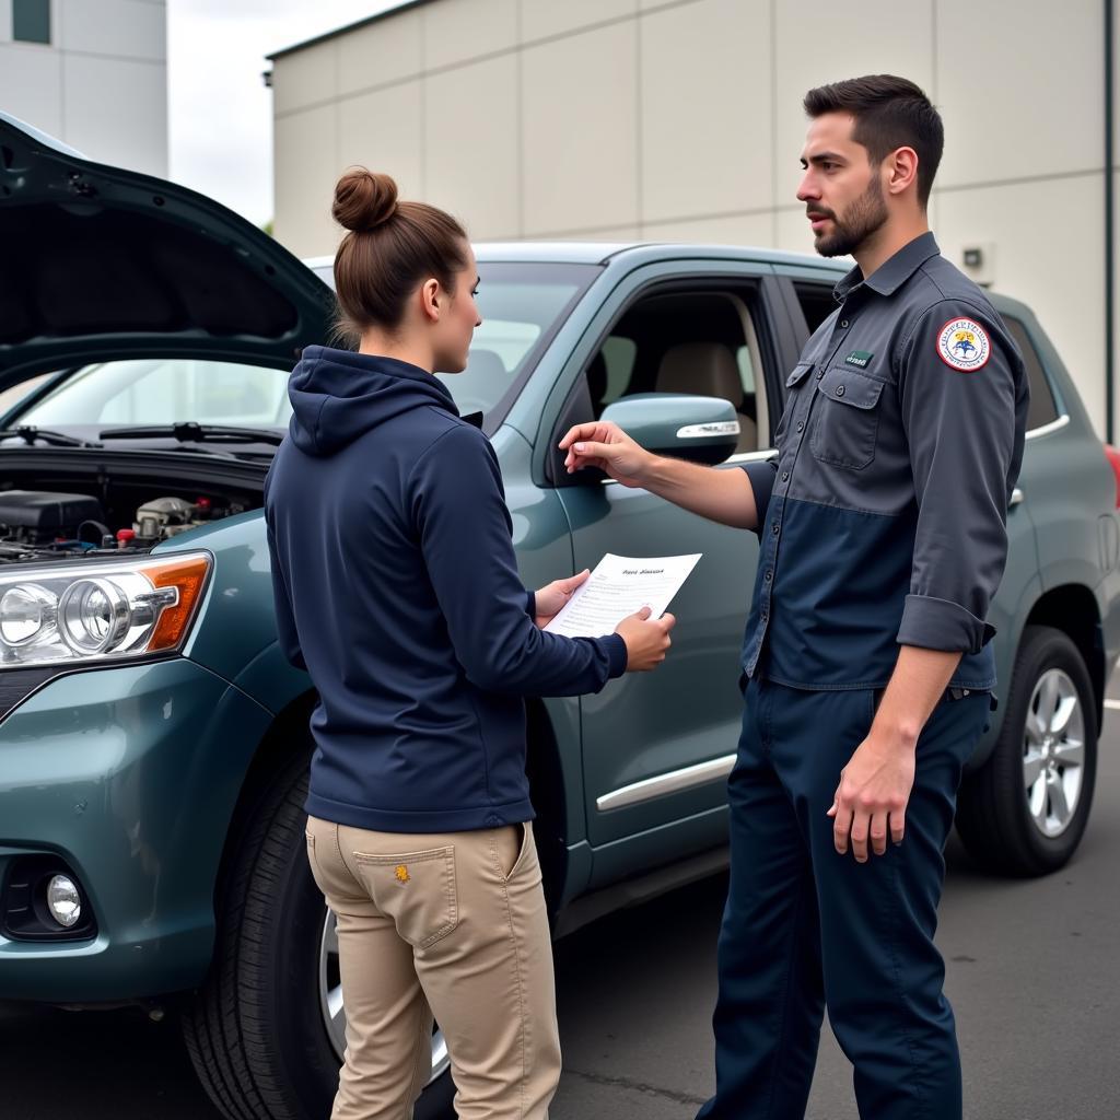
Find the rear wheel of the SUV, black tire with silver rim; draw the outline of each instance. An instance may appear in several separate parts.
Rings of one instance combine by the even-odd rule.
[[[977,864],[1038,876],[1073,856],[1093,801],[1096,725],[1077,647],[1062,631],[1028,626],[991,757],[958,797],[956,831]]]

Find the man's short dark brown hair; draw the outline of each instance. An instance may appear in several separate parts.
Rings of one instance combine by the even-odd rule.
[[[917,197],[926,206],[945,148],[945,128],[918,86],[892,74],[869,74],[810,90],[804,104],[812,118],[851,113],[856,119],[851,138],[867,149],[872,166],[898,148],[913,148],[917,152]]]

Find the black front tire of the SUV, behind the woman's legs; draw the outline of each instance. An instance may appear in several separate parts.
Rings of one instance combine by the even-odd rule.
[[[327,907],[307,862],[307,757],[291,759],[243,815],[218,890],[214,960],[181,1016],[195,1071],[228,1120],[321,1120],[338,1086],[320,995]],[[414,1120],[452,1118],[452,1093],[445,1071]]]

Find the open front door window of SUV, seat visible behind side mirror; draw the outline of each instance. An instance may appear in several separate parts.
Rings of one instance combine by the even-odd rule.
[[[750,299],[749,292],[713,290],[660,292],[637,300],[588,363],[595,416],[634,393],[717,396],[738,413],[737,454],[768,447]]]

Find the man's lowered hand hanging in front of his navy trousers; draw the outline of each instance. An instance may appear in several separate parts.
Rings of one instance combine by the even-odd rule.
[[[829,810],[833,842],[841,856],[848,852],[849,839],[859,864],[867,862],[869,839],[876,856],[886,852],[888,831],[894,843],[903,842],[906,803],[914,786],[914,750],[913,743],[892,741],[874,729],[856,748],[840,772]]]

